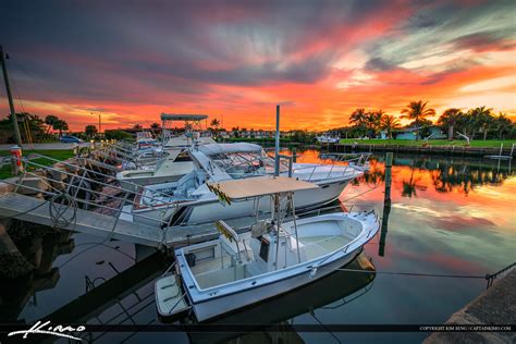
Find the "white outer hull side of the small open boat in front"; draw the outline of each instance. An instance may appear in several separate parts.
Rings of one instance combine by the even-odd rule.
[[[356,256],[360,254],[361,249],[363,247],[360,246],[339,259],[320,266],[314,275],[310,275],[311,270],[307,270],[303,273],[285,278],[270,284],[260,285],[255,288],[245,290],[231,295],[224,295],[223,297],[193,303],[194,312],[198,321],[206,321],[221,315],[235,311],[243,307],[266,300],[268,298],[291,292],[295,288],[312,283],[334,272],[335,269],[339,269],[353,261],[353,259],[355,259]]]

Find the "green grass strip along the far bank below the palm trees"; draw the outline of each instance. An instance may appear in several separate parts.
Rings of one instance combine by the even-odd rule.
[[[353,143],[358,143],[359,145],[400,145],[400,146],[422,146],[425,144],[423,139],[414,140],[414,139],[357,139],[357,138],[342,138],[341,145],[351,145]],[[504,148],[511,148],[513,144],[516,144],[516,139],[475,139],[471,140],[471,147],[494,147],[500,148],[500,145],[503,143]],[[430,146],[466,146],[466,140],[447,140],[447,139],[429,139],[428,144]]]

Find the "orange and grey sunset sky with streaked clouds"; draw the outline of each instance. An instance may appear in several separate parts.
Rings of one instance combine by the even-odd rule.
[[[281,105],[282,130],[322,131],[420,99],[516,120],[516,1],[4,0],[0,44],[16,111],[72,130],[162,112],[270,130]]]

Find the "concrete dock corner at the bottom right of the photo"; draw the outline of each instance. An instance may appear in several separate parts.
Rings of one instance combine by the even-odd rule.
[[[512,325],[513,332],[434,332],[425,344],[437,343],[516,343],[516,269],[458,310],[445,325]]]

